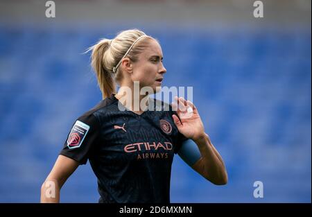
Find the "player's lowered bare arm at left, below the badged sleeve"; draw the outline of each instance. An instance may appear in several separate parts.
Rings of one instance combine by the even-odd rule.
[[[59,155],[52,171],[41,186],[40,202],[60,202],[60,189],[78,166],[79,162]]]

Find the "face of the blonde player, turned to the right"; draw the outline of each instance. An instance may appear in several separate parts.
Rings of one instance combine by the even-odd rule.
[[[156,40],[148,40],[148,46],[139,54],[137,62],[132,63],[131,80],[139,81],[141,87],[151,87],[156,92],[156,87],[162,86],[166,69],[162,64],[162,48]]]

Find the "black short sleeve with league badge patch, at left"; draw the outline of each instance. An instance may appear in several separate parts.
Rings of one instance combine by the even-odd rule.
[[[73,123],[60,155],[74,159],[80,164],[86,164],[92,146],[96,143],[98,131],[99,123],[96,116],[93,114],[80,116]]]

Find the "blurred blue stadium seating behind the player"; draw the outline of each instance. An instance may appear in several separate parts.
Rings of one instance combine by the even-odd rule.
[[[101,100],[89,54],[81,53],[114,32],[0,29],[0,202],[39,200],[72,122]],[[311,32],[171,30],[155,37],[166,85],[193,86],[229,173],[220,189],[176,157],[172,202],[255,202],[257,179],[268,187],[263,201],[311,202]],[[63,201],[96,202],[89,176],[89,166],[79,169]]]

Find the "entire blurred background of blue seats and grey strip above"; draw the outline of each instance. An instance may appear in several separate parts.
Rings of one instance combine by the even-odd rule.
[[[175,156],[171,202],[311,202],[311,1],[0,1],[0,202],[39,202],[73,121],[101,101],[85,49],[140,28],[162,44],[164,85],[193,86],[225,160],[215,186]],[[254,182],[264,198],[254,198]],[[97,202],[80,166],[61,202]]]

